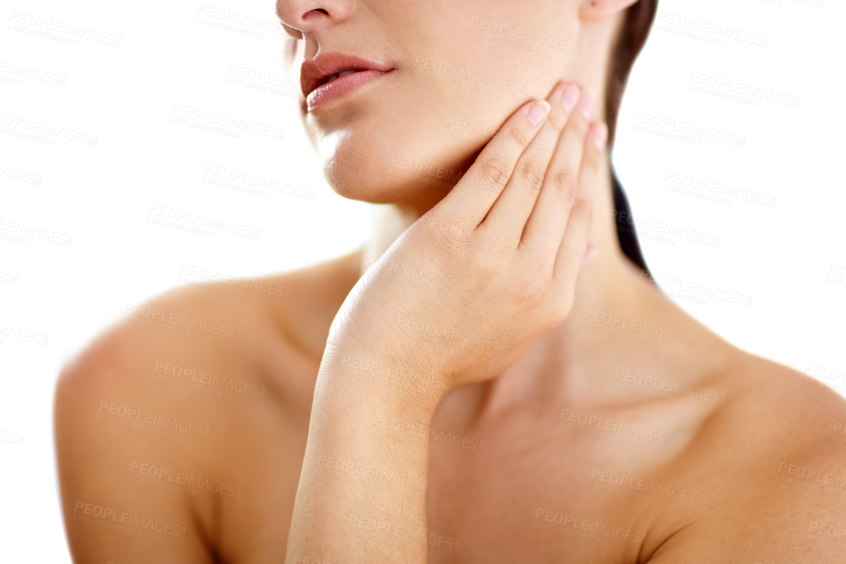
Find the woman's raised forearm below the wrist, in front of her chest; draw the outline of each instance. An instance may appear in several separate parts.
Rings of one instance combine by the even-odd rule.
[[[288,564],[426,562],[428,440],[384,424],[428,429],[443,390],[362,356],[330,347],[321,364]]]

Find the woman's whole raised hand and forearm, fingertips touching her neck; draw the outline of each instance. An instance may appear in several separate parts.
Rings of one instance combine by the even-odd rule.
[[[315,386],[286,562],[426,562],[428,436],[378,423],[425,431],[444,380],[492,377],[567,316],[606,131],[588,126],[590,97],[583,114],[579,91],[559,85],[520,108],[347,297]],[[373,469],[382,487],[327,472],[338,463]]]

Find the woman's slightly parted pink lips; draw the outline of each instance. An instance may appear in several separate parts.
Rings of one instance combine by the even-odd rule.
[[[393,64],[343,53],[325,53],[302,64],[299,86],[309,109],[314,109],[393,69]]]

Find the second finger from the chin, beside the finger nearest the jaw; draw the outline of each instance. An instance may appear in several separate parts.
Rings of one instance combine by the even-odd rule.
[[[552,89],[547,97],[552,107],[547,121],[518,158],[514,174],[493,203],[482,225],[496,225],[497,230],[504,232],[503,235],[510,235],[519,241],[526,219],[535,207],[547,167],[558,145],[558,137],[568,123],[570,113],[576,108],[579,96],[579,87],[573,84],[559,83]]]

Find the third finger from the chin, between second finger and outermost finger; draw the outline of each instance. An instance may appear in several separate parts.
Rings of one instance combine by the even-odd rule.
[[[522,241],[530,248],[541,249],[541,252],[558,252],[570,210],[579,191],[579,169],[589,126],[585,116],[590,114],[595,101],[592,91],[582,91],[580,111],[572,113],[561,133],[536,206],[523,230]]]

